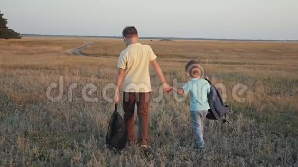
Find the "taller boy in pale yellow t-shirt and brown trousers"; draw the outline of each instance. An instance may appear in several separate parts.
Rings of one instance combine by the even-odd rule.
[[[123,82],[123,110],[124,120],[128,133],[128,142],[134,142],[134,109],[137,103],[137,113],[139,118],[139,138],[138,143],[142,153],[147,153],[148,144],[148,108],[150,102],[150,75],[149,64],[153,66],[161,82],[164,92],[169,92],[170,87],[164,79],[163,73],[156,62],[156,55],[149,45],[138,43],[138,32],[134,26],[126,27],[123,32],[124,49],[118,60],[118,75],[116,79],[116,90],[114,102],[119,101],[119,87]]]

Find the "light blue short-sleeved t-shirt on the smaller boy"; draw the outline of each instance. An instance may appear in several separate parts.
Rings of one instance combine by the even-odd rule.
[[[182,87],[184,93],[190,92],[190,111],[208,110],[207,94],[210,92],[210,85],[204,79],[193,78]]]

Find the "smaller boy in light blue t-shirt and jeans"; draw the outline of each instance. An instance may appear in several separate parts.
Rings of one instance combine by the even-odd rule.
[[[202,79],[202,71],[198,62],[191,60],[185,65],[185,71],[190,80],[182,88],[172,88],[174,92],[182,95],[190,92],[190,114],[192,128],[196,137],[195,148],[203,150],[203,128],[204,118],[210,108],[208,105],[207,94],[210,92],[209,83]]]

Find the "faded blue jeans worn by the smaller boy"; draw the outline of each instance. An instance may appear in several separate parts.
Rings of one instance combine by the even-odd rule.
[[[204,119],[208,110],[191,111],[192,129],[196,137],[196,147],[203,148],[205,141],[203,139]]]

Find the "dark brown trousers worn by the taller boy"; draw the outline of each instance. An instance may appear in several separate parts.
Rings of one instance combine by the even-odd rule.
[[[139,118],[140,144],[148,144],[148,114],[150,103],[150,92],[123,92],[124,121],[128,133],[128,142],[134,142],[135,104],[137,103],[137,114]]]

